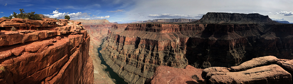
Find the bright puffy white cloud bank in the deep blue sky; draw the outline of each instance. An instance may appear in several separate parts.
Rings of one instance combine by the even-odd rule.
[[[90,16],[88,14],[90,13],[82,13],[82,12],[78,12],[78,13],[59,13],[58,10],[53,11],[53,13],[50,14],[54,14],[54,15],[49,15],[49,14],[44,14],[45,16],[48,16],[50,18],[57,18],[57,19],[64,19],[65,15],[69,15],[71,20],[77,20],[77,19],[85,19],[85,20],[93,20],[93,19],[105,19],[105,18],[109,18],[110,16],[105,16],[105,17],[96,17],[95,15]]]

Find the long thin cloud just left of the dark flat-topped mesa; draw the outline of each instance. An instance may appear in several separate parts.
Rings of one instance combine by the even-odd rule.
[[[197,17],[202,17],[202,15],[180,15],[180,14],[169,14],[169,13],[163,13],[163,14],[149,14],[148,17],[153,17],[153,18],[190,18],[194,19]]]

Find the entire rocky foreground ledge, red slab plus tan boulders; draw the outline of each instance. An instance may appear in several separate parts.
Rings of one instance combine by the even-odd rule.
[[[168,66],[156,68],[148,84],[291,84],[293,60],[274,56],[253,58],[235,67],[185,69]]]

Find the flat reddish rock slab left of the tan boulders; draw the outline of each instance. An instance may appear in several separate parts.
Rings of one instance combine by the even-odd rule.
[[[185,69],[159,66],[156,68],[151,84],[199,83],[203,81],[201,78],[202,70],[203,69],[196,69],[190,65],[187,65]]]

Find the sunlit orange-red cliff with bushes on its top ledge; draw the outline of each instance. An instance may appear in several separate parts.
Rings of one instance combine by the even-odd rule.
[[[80,24],[57,27],[57,20],[47,18],[6,21],[10,22],[1,23],[0,28],[1,84],[93,83],[90,37]],[[44,23],[35,26],[38,22]],[[9,25],[17,31],[10,31]]]

